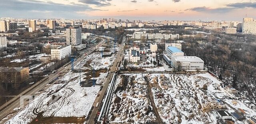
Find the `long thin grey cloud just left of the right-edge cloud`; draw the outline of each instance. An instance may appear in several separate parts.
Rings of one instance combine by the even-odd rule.
[[[210,13],[226,13],[226,12],[230,12],[231,10],[234,10],[234,8],[208,8],[205,6],[202,7],[194,7],[194,8],[190,8],[190,9],[186,9],[184,11],[196,11],[196,12],[210,12]]]

